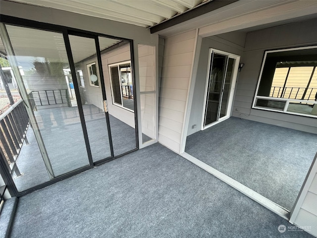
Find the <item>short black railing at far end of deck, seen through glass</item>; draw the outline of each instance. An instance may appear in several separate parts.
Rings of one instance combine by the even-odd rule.
[[[70,107],[68,89],[48,89],[32,91],[32,98],[36,106],[64,104]]]

